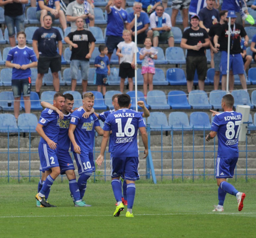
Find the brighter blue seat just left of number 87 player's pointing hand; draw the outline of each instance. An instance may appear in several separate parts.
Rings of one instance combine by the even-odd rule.
[[[195,131],[211,130],[210,119],[205,112],[193,112],[190,114],[190,126]]]

